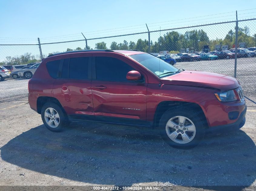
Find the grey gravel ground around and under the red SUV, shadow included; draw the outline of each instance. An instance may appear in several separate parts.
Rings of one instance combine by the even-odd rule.
[[[208,135],[190,150],[172,148],[146,128],[71,123],[54,133],[27,98],[0,103],[0,190],[95,185],[255,190],[256,97],[246,101],[241,130]]]

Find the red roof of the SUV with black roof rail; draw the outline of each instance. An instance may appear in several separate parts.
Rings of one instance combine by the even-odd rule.
[[[69,52],[63,52],[63,53],[56,53],[56,54],[50,54],[47,57],[56,56],[56,55],[62,55],[62,54],[70,54],[70,53],[84,53],[84,52],[116,52],[124,55],[133,55],[133,54],[142,54],[143,52],[140,52],[138,50],[75,50],[75,51],[69,51]]]

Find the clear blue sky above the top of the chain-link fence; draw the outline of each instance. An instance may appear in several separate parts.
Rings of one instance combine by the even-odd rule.
[[[149,30],[159,30],[233,21],[236,10],[238,20],[256,18],[256,5],[253,7],[251,0],[242,2],[0,0],[0,44],[37,43],[38,37],[41,43],[77,40],[83,39],[81,32],[86,38],[144,32],[146,23]],[[145,39],[147,34],[141,36]],[[158,34],[152,34],[153,40],[157,37]],[[94,48],[94,41],[90,43]],[[0,47],[0,60],[1,50]]]

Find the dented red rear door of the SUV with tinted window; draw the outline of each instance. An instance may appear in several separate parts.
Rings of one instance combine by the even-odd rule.
[[[91,54],[59,60],[59,71],[53,85],[53,94],[67,114],[93,115]]]

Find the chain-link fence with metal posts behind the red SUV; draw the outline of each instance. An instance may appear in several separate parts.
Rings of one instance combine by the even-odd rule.
[[[35,68],[23,67],[52,53],[81,49],[136,49],[160,55],[177,68],[236,77],[245,95],[255,94],[255,47],[256,19],[55,43],[38,39],[38,44],[0,44],[0,102],[27,96],[28,79]]]

